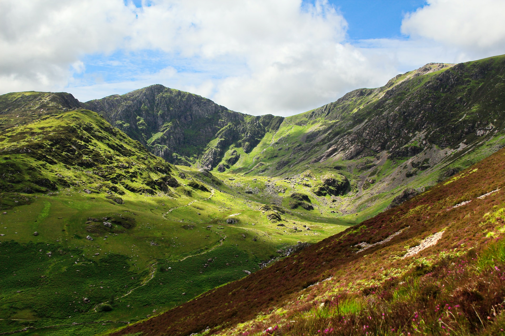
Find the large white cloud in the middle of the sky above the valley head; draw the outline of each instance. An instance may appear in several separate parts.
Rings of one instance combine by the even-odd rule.
[[[378,85],[377,75],[384,75],[345,42],[347,23],[325,2],[216,3],[157,2],[146,7],[132,43],[216,60],[226,76],[213,81],[213,98],[254,114],[304,111],[350,88]],[[242,64],[242,69],[227,72],[226,63]],[[394,72],[388,70],[388,76]]]

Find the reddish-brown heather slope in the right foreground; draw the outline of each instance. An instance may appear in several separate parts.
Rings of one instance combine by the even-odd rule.
[[[501,334],[504,183],[500,150],[397,208],[114,334]]]

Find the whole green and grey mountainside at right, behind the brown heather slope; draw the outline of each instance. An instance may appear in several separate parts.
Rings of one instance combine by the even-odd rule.
[[[504,56],[427,64],[285,118],[250,154],[231,149],[241,157],[230,171],[344,174],[349,192],[331,197],[338,213],[376,214],[406,187],[419,192],[503,146],[504,78]]]

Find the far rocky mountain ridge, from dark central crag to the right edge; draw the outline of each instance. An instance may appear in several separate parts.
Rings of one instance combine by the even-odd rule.
[[[342,192],[326,192],[321,178],[345,176],[346,197],[331,198],[337,213],[371,216],[406,188],[419,192],[504,145],[504,64],[504,56],[429,63],[383,87],[355,90],[286,118],[246,116],[162,86],[84,105],[119,127],[131,125],[133,139],[151,153],[172,156],[169,162],[249,176],[310,170],[316,180],[303,192],[322,203],[321,196]],[[163,128],[172,116],[179,126]],[[138,127],[142,136],[133,132]],[[188,143],[198,146],[190,153]]]

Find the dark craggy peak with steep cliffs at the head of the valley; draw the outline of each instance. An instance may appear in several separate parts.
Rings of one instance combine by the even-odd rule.
[[[248,153],[283,120],[230,111],[209,99],[163,85],[88,101],[82,106],[105,116],[168,162],[190,165],[199,159],[209,169],[217,166],[224,147],[238,143]]]

